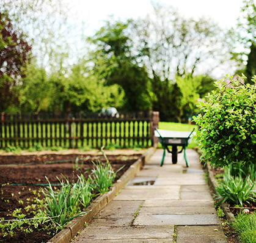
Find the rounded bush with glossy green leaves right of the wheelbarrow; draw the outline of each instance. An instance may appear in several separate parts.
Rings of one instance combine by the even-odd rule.
[[[244,78],[244,77],[243,77]],[[256,144],[256,87],[244,85],[243,78],[232,76],[216,82],[217,90],[200,103],[203,114],[194,121],[202,159],[216,167],[243,162],[255,163]],[[229,82],[229,84],[227,84]]]

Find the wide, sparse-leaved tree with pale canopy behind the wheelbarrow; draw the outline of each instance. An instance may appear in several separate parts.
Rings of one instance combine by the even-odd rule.
[[[186,19],[171,6],[153,7],[152,15],[132,22],[133,51],[139,51],[137,62],[147,67],[152,78],[153,109],[160,112],[161,120],[177,121],[181,100],[175,79],[208,76],[229,62],[229,35],[210,19]]]

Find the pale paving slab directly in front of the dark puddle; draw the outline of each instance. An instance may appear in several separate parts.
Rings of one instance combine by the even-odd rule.
[[[152,198],[155,200],[178,200],[180,197],[180,186],[155,188],[153,186],[147,186],[148,190],[145,190],[144,187],[137,189],[123,189],[113,200],[147,200]]]

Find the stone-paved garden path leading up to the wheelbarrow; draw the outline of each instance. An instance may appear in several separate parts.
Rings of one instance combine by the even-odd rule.
[[[73,242],[227,243],[199,156],[186,151],[188,168],[181,154],[160,167],[157,150]]]

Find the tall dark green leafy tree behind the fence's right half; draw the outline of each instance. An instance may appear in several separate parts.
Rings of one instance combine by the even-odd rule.
[[[106,85],[118,84],[125,92],[125,111],[148,111],[151,109],[149,78],[145,67],[139,67],[136,56],[131,53],[133,42],[128,33],[128,23],[106,21],[106,25],[90,41],[96,46],[92,53],[94,73],[100,73]],[[102,70],[100,65],[106,67]]]

